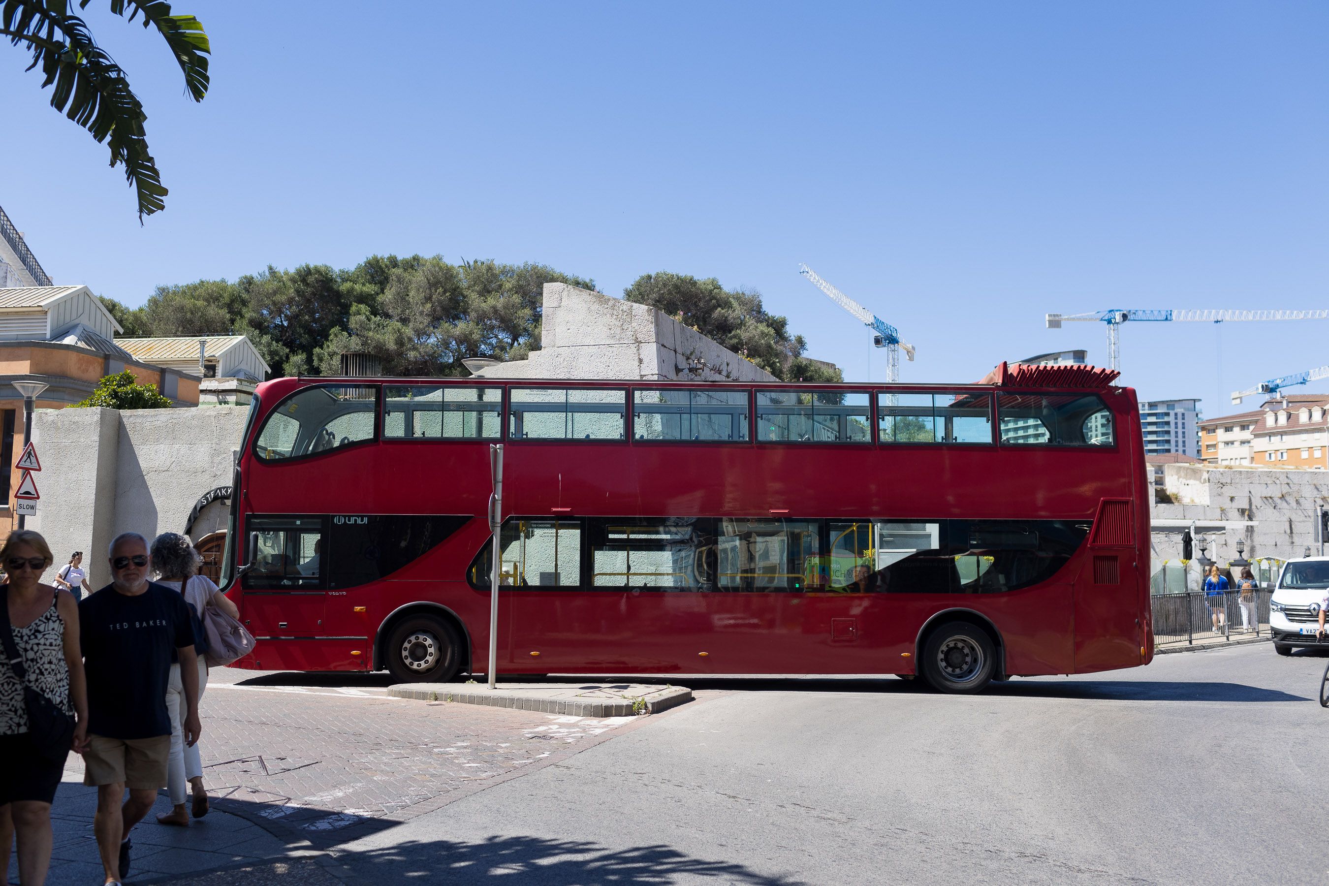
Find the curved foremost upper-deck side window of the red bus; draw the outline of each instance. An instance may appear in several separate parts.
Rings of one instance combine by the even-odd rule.
[[[314,385],[283,400],[254,442],[262,461],[314,456],[373,440],[377,388]]]

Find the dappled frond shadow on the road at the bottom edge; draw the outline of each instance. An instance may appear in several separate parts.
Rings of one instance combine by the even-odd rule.
[[[389,849],[338,853],[338,861],[358,879],[371,883],[482,883],[502,878],[541,886],[645,885],[702,877],[754,886],[796,886],[803,882],[759,874],[735,862],[692,858],[658,843],[609,849],[589,841],[544,837],[489,837],[480,842],[409,841]]]

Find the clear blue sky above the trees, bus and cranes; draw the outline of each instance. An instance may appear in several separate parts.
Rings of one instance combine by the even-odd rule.
[[[391,9],[391,12],[387,12]],[[1087,348],[1049,311],[1325,307],[1329,5],[393,4],[181,0],[165,45],[94,0],[170,187],[122,173],[0,46],[0,206],[57,283],[154,286],[373,252],[544,262],[621,295],[670,270],[759,290],[849,380],[869,335],[807,262],[970,381]],[[1123,383],[1204,399],[1329,363],[1329,321],[1134,324]],[[1255,408],[1247,401],[1245,408]]]

